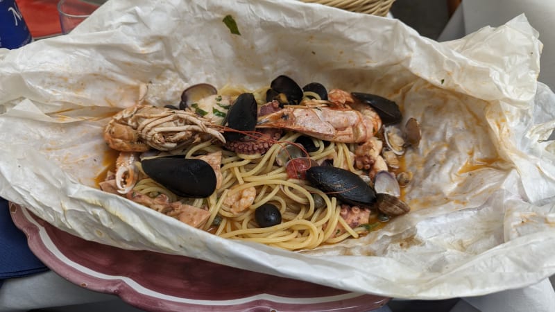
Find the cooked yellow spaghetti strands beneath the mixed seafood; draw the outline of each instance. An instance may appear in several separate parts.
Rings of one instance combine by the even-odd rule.
[[[265,92],[260,88],[251,92],[259,105],[264,104]],[[236,98],[246,92],[241,87],[225,86],[219,95]],[[309,92],[312,103],[320,103],[317,94]],[[302,103],[300,104],[302,105]],[[313,249],[323,244],[338,243],[348,238],[358,238],[368,233],[370,228],[379,225],[378,214],[370,213],[364,224],[351,226],[343,218],[343,207],[333,193],[316,189],[306,180],[292,178],[286,166],[278,164],[277,159],[288,144],[295,144],[300,132],[284,132],[278,141],[263,155],[257,153],[246,155],[226,150],[221,144],[205,141],[196,145],[173,150],[171,154],[185,158],[200,158],[207,155],[221,155],[221,162],[215,166],[221,173],[219,186],[207,198],[182,198],[149,178],[140,162],[137,166],[142,178],[135,184],[134,192],[158,198],[165,196],[168,202],[180,202],[183,205],[203,209],[207,220],[200,227],[207,232],[226,239],[252,241],[287,250]],[[353,152],[357,144],[338,141],[323,141],[310,137],[314,151],[305,150],[311,161],[332,162],[332,165],[368,177],[368,171],[357,169]],[[220,157],[220,156],[218,156]],[[219,170],[217,170],[219,169]],[[277,207],[281,222],[276,225],[261,227],[255,212],[263,205]],[[169,216],[178,216],[171,209],[153,207]]]

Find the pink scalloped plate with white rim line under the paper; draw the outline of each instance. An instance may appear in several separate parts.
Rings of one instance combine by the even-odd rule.
[[[35,255],[83,288],[119,295],[146,311],[370,311],[389,298],[189,257],[123,250],[85,241],[10,203]]]

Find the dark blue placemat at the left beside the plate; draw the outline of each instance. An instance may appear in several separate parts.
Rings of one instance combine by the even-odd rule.
[[[8,201],[0,198],[0,286],[2,279],[48,270],[29,250],[27,238],[13,224]]]

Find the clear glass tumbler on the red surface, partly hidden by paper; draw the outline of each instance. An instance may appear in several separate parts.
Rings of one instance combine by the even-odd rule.
[[[98,5],[87,1],[60,0],[58,2],[58,14],[60,15],[62,33],[67,34],[72,31],[97,8],[99,8]]]

